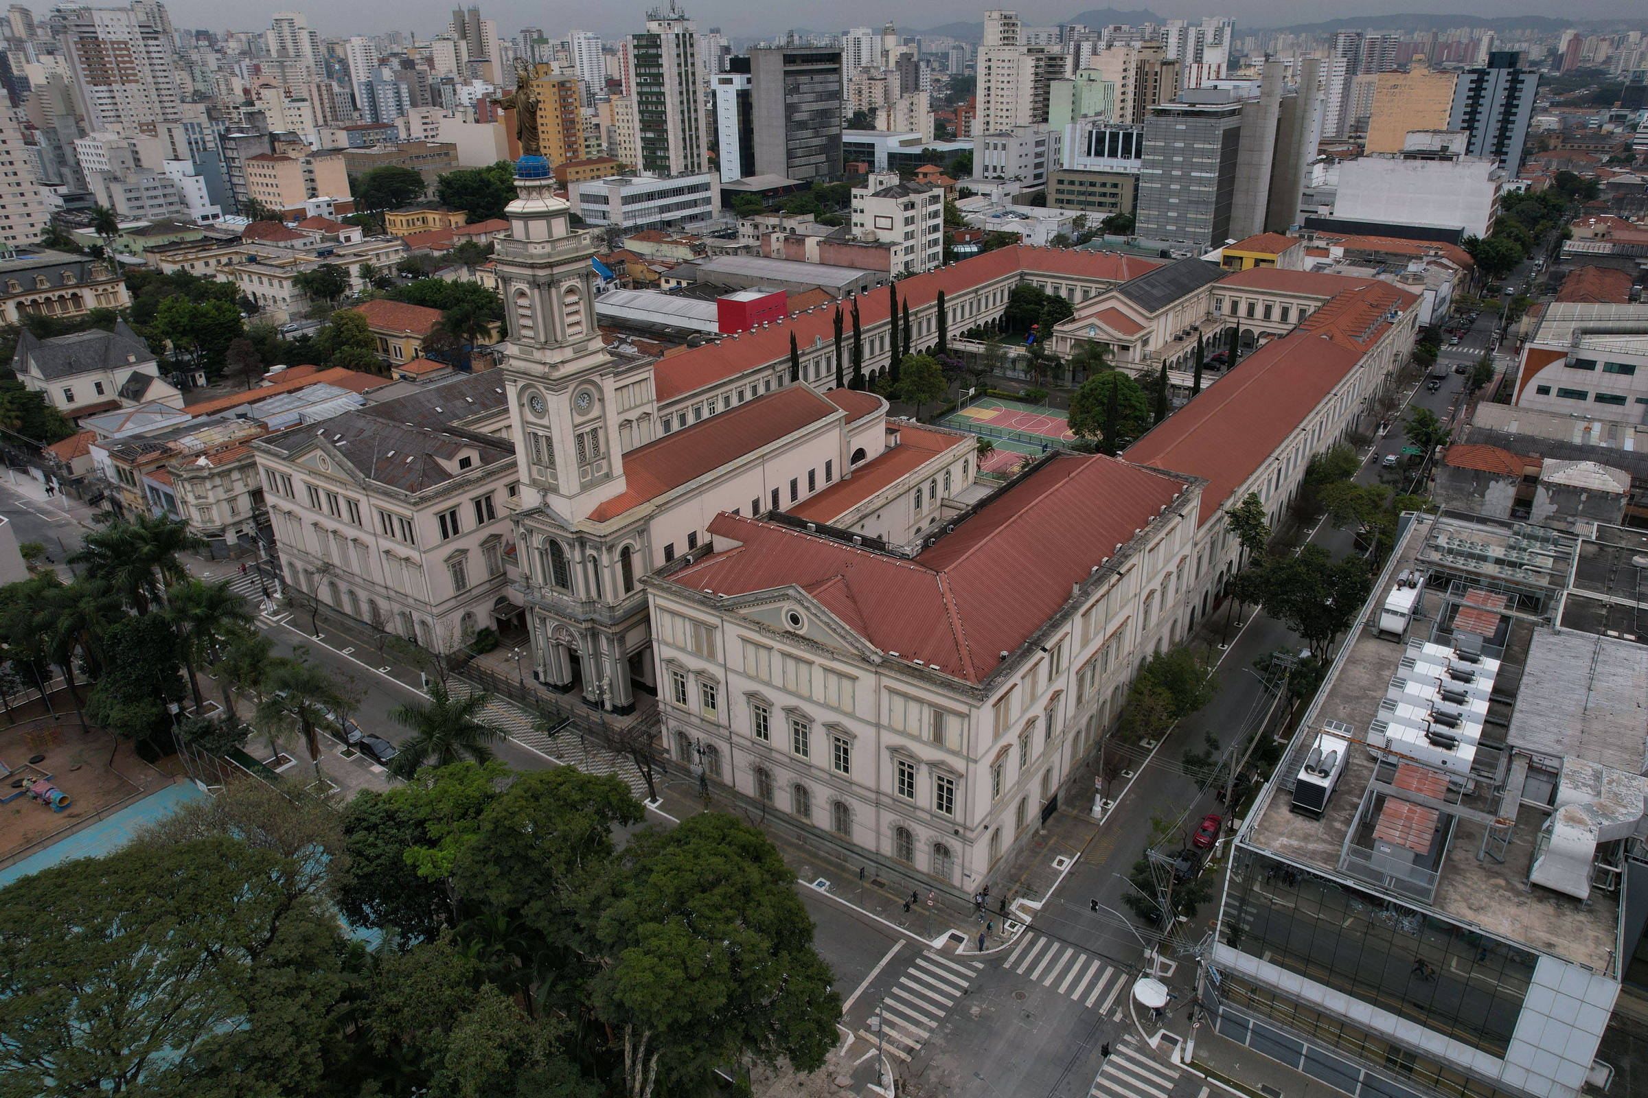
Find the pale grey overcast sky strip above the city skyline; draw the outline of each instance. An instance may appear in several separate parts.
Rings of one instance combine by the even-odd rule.
[[[994,0],[1000,2],[1000,0]],[[667,3],[667,0],[664,0]],[[791,26],[836,31],[845,26],[880,26],[892,18],[900,30],[926,30],[954,20],[981,21],[984,8],[994,3],[977,0],[905,0],[888,3],[887,0],[839,0],[837,3],[817,3],[816,0],[681,0],[687,15],[700,28],[720,26],[728,35],[766,36]],[[1287,23],[1310,23],[1320,20],[1343,18],[1355,25],[1356,16],[1384,15],[1393,12],[1412,12],[1435,7],[1449,12],[1473,12],[1480,15],[1549,15],[1559,13],[1580,20],[1630,18],[1648,26],[1641,0],[1566,0],[1561,5],[1541,3],[1538,0],[1172,0],[1163,3],[1129,3],[1117,2],[1121,10],[1149,8],[1162,18],[1198,18],[1203,15],[1229,15],[1238,28],[1246,26],[1280,26]],[[447,26],[453,3],[448,0],[353,0],[351,3],[328,3],[325,7],[303,0],[292,3],[287,0],[255,0],[252,3],[236,2],[232,5],[214,0],[166,0],[175,26],[204,26],[224,30],[222,20],[232,18],[232,30],[249,30],[269,26],[274,12],[297,8],[307,12],[310,25],[323,35],[376,35],[387,30],[417,31],[420,36],[440,33]],[[550,38],[559,38],[569,30],[588,30],[605,38],[616,38],[643,30],[646,12],[651,7],[646,0],[603,0],[590,3],[583,0],[493,0],[481,2],[481,15],[498,21],[498,31],[514,36],[522,26],[541,26]],[[1081,3],[1081,0],[1037,0],[1020,3],[1018,12],[1027,21],[1058,23],[1079,12],[1106,7],[1101,3]]]

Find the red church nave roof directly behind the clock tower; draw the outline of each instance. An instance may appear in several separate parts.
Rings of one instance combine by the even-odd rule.
[[[789,385],[654,438],[623,456],[626,491],[592,510],[590,522],[616,519],[631,507],[658,499],[832,415],[836,415],[834,403],[808,385]]]

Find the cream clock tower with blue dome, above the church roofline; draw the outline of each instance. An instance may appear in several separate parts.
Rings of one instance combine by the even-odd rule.
[[[522,505],[578,522],[625,491],[615,364],[595,326],[593,234],[572,227],[542,156],[516,163],[493,265],[509,324],[509,393]]]

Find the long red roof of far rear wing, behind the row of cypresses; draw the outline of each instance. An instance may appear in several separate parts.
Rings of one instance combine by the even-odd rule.
[[[1116,252],[1012,245],[951,263],[949,267],[929,270],[925,275],[900,278],[897,283],[898,301],[903,305],[908,300],[910,308],[915,309],[929,305],[939,290],[946,296],[954,296],[962,290],[1017,272],[1088,277],[1121,283],[1157,267],[1160,263],[1154,260],[1119,255]],[[859,296],[857,301],[859,323],[864,328],[887,319],[885,290],[873,290]],[[796,333],[796,339],[803,347],[812,346],[814,337],[831,342],[836,339],[836,329],[831,323],[832,316],[834,311],[793,316],[766,329],[747,331],[720,342],[704,344],[702,347],[671,356],[659,362],[654,370],[658,402],[667,403],[682,393],[714,385],[761,364],[778,362],[789,354],[791,331]],[[852,329],[850,319],[847,321],[847,328],[849,331]]]

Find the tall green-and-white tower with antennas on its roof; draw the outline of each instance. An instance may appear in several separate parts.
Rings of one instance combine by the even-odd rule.
[[[697,30],[686,12],[648,12],[646,31],[630,38],[634,125],[643,171],[679,176],[709,171]]]

